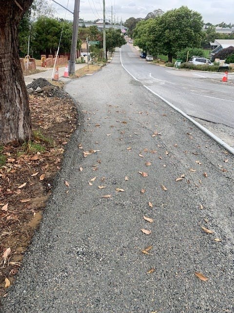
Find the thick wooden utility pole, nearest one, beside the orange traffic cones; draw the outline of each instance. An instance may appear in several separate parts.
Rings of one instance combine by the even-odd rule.
[[[78,21],[79,21],[79,0],[75,0],[74,6],[74,18],[73,18],[73,29],[72,29],[72,45],[69,63],[69,74],[75,74],[75,65],[77,58],[77,40],[78,40]]]

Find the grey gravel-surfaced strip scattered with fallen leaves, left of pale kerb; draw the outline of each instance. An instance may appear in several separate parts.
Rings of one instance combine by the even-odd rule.
[[[79,126],[1,312],[234,312],[234,156],[118,51],[66,91]]]

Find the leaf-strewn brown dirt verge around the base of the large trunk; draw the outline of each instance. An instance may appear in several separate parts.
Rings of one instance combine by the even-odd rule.
[[[76,129],[73,100],[43,80],[33,84],[42,91],[29,96],[31,140],[0,146],[0,296],[14,282]]]

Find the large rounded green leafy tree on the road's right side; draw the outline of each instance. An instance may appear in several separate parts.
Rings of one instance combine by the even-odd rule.
[[[168,55],[168,61],[186,46],[199,47],[202,38],[202,16],[187,6],[170,10],[153,20],[149,27],[152,48]]]

